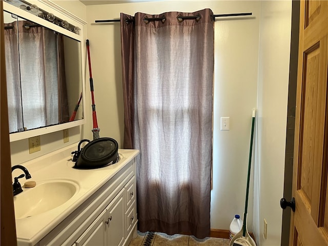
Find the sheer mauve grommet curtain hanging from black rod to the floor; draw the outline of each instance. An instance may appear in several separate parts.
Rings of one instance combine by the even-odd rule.
[[[178,16],[200,15],[200,19]],[[138,230],[210,233],[212,11],[121,14],[124,148],[137,158]],[[165,16],[165,21],[144,18]],[[130,142],[129,142],[130,141]]]

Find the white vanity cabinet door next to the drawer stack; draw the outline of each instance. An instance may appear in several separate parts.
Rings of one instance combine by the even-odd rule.
[[[125,238],[125,211],[123,202],[124,189],[109,203],[107,207],[107,217],[109,223],[106,224],[105,230],[108,233],[108,246],[120,246],[124,243]]]

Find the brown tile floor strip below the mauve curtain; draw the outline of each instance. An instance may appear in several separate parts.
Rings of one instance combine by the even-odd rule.
[[[129,246],[229,246],[229,239],[206,237],[198,239],[187,235],[167,235],[159,232],[138,232]]]

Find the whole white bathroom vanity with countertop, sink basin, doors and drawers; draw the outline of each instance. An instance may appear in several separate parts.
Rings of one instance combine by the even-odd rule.
[[[74,144],[23,163],[36,187],[23,187],[14,197],[18,245],[117,246],[129,245],[136,236],[139,151],[119,149],[114,165],[81,170],[73,168],[71,152],[76,148]]]

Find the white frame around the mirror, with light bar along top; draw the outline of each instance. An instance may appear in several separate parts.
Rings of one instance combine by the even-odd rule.
[[[27,1],[26,1],[27,2]],[[58,125],[54,125],[54,126],[48,126],[48,127],[42,127],[42,128],[37,128],[37,129],[32,129],[32,130],[28,130],[28,131],[24,131],[24,132],[15,132],[15,133],[10,133],[9,134],[9,139],[10,142],[13,141],[17,141],[17,140],[22,140],[22,139],[26,139],[29,137],[34,137],[34,136],[39,136],[39,135],[44,135],[44,134],[48,134],[48,133],[52,133],[52,132],[57,132],[60,130],[65,130],[68,128],[72,128],[72,127],[76,127],[76,126],[80,126],[80,125],[84,125],[86,120],[85,120],[85,113],[86,113],[86,92],[85,92],[85,63],[84,63],[84,57],[85,57],[85,48],[86,48],[86,44],[84,42],[84,25],[86,25],[87,23],[78,18],[77,16],[71,14],[70,12],[66,11],[65,9],[59,7],[58,5],[48,1],[48,0],[44,0],[43,2],[40,2],[38,0],[36,1],[28,1],[29,4],[35,4],[37,5],[37,7],[39,7],[40,9],[43,9],[44,11],[47,11],[48,13],[53,13],[55,16],[61,18],[61,19],[65,19],[67,20],[70,24],[79,27],[80,28],[80,33],[79,35],[76,33],[73,33],[69,30],[66,30],[62,27],[59,27],[51,22],[48,22],[48,20],[45,20],[43,18],[40,18],[26,10],[22,10],[19,9],[11,4],[6,3],[5,1],[3,1],[3,7],[4,10],[16,14],[20,17],[23,17],[27,20],[30,20],[31,22],[40,24],[44,27],[47,27],[49,29],[52,29],[56,32],[62,33],[68,37],[71,37],[73,39],[76,39],[80,42],[80,51],[81,51],[81,83],[82,83],[82,98],[83,98],[83,118],[82,119],[77,119],[74,121],[70,121],[70,122],[66,122],[63,124],[58,124]]]

